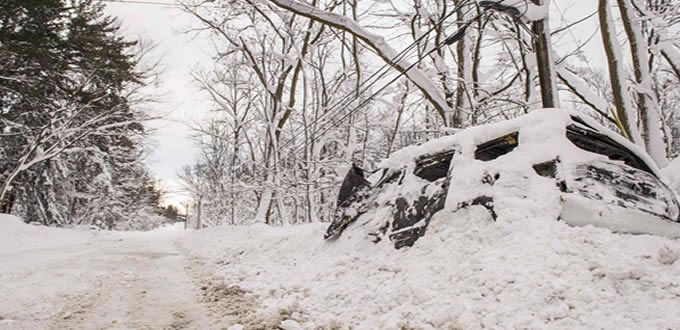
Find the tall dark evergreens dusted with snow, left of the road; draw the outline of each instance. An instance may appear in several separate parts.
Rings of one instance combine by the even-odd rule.
[[[0,1],[0,211],[46,225],[148,228],[144,49],[92,0]]]

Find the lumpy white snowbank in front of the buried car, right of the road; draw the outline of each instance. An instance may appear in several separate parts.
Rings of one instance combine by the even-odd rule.
[[[204,271],[257,301],[239,315],[304,329],[680,324],[678,240],[549,218],[493,222],[476,207],[432,221],[401,250],[363,237],[326,243],[325,227],[220,227],[183,242]]]

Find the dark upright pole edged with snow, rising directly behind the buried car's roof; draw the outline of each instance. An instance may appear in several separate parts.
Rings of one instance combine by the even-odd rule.
[[[538,6],[548,0],[532,0]],[[541,85],[541,100],[544,108],[559,108],[557,95],[557,80],[555,62],[552,57],[552,43],[550,42],[550,24],[548,16],[532,23],[534,32],[534,52],[538,64],[538,80]]]

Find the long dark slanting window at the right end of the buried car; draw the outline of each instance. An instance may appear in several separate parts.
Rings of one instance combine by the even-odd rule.
[[[653,174],[640,157],[609,136],[578,125],[569,125],[567,126],[567,139],[585,151],[606,156],[611,160],[622,161],[630,167]]]

